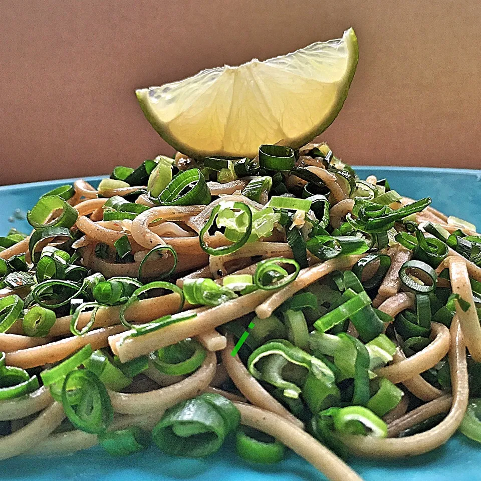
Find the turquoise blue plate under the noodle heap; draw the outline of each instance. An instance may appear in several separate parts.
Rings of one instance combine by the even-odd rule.
[[[418,199],[430,196],[432,205],[449,214],[481,226],[481,170],[404,167],[358,167],[361,178],[374,174],[386,177],[391,188]],[[90,180],[99,181],[99,177]],[[35,205],[43,193],[71,180],[36,182],[0,187],[0,234],[11,227],[26,232],[30,227],[22,213]],[[20,212],[16,209],[20,209]],[[9,220],[10,218],[10,220]],[[208,459],[168,457],[154,447],[129,457],[113,458],[100,448],[68,456],[33,458],[23,456],[3,461],[0,479],[16,481],[297,481],[325,479],[294,453],[270,467],[249,465],[233,454],[232,441]],[[481,446],[457,434],[444,446],[422,456],[393,461],[352,458],[352,467],[366,481],[473,481],[481,479]]]

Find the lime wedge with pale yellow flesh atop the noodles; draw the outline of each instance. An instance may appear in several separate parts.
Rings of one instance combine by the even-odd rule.
[[[342,39],[136,91],[145,117],[192,157],[255,157],[262,144],[294,149],[336,118],[356,71],[353,29]]]

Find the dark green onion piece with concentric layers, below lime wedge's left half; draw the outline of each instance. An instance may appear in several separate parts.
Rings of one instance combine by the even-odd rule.
[[[200,170],[189,169],[179,172],[156,200],[161,205],[207,205],[210,192]]]

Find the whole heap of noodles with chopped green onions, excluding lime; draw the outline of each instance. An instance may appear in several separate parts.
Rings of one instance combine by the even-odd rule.
[[[129,454],[146,431],[204,456],[236,431],[242,457],[285,445],[354,481],[346,453],[415,455],[466,432],[481,237],[326,144],[279,149],[116,167],[104,188],[46,194],[30,235],[2,237],[2,458]],[[159,162],[170,180],[154,195]]]

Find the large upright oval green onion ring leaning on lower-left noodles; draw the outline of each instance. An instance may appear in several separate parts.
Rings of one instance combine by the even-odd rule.
[[[75,397],[75,403],[71,397]],[[104,383],[88,369],[70,371],[62,386],[62,405],[70,422],[92,434],[104,432],[114,411]]]

